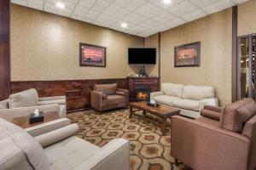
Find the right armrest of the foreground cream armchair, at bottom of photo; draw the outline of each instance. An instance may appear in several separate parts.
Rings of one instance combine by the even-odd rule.
[[[130,143],[125,139],[113,139],[95,155],[90,156],[73,170],[130,170]]]

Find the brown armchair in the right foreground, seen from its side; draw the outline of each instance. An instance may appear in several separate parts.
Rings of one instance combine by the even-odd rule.
[[[205,106],[201,117],[171,118],[171,155],[196,170],[256,169],[256,104],[241,99],[224,109]]]

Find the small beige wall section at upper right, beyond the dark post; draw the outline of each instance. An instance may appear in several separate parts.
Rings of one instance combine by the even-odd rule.
[[[237,22],[238,36],[256,33],[256,0],[238,5]]]

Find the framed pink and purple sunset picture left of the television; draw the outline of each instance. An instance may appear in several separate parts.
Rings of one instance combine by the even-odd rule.
[[[106,67],[106,47],[79,43],[80,66]]]

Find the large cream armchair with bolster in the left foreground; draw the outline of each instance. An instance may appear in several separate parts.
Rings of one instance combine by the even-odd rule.
[[[3,137],[0,138],[0,167],[3,169],[130,169],[130,144],[125,139],[113,139],[100,148],[73,136],[79,130],[77,124],[57,127],[33,138],[1,118],[0,127],[3,127],[0,128]]]

